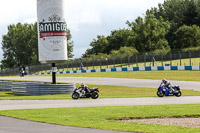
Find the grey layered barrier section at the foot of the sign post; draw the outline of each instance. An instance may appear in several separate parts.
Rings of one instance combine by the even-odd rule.
[[[16,95],[72,94],[75,88],[75,84],[51,84],[46,82],[20,81],[7,82],[11,82],[11,91]]]

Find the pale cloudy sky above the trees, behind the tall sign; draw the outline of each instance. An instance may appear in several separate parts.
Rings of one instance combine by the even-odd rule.
[[[67,26],[74,42],[74,58],[80,58],[97,35],[127,28],[126,21],[144,17],[147,9],[158,7],[164,0],[66,0]],[[37,0],[1,0],[0,42],[10,24],[37,21]],[[0,61],[3,52],[0,44]]]

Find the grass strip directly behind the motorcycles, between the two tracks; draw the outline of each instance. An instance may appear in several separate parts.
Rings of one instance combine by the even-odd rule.
[[[77,86],[80,86],[77,84]],[[99,87],[99,98],[131,98],[131,97],[157,97],[156,88],[121,87],[111,85],[88,85]],[[183,96],[200,96],[200,91],[181,90]],[[12,92],[0,91],[0,100],[47,100],[47,99],[71,99],[70,94],[22,96]]]

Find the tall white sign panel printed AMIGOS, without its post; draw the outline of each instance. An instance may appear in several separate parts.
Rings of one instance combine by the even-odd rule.
[[[67,60],[65,0],[37,0],[38,49],[41,63]]]

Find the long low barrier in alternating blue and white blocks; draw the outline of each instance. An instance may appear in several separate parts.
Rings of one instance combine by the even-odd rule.
[[[73,70],[57,72],[57,74],[69,74],[69,73],[94,73],[94,72],[120,72],[120,71],[174,71],[174,70],[194,70],[199,71],[200,66],[155,66],[155,67],[125,67],[125,68],[107,68],[107,69],[93,69],[93,70]],[[48,73],[40,73],[35,75],[46,75]]]

